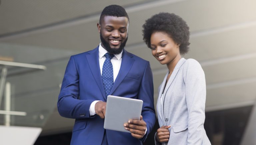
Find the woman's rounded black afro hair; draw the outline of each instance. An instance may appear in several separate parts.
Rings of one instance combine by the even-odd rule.
[[[189,27],[178,15],[173,13],[159,13],[147,19],[143,27],[143,40],[151,48],[150,38],[154,32],[163,32],[169,35],[174,42],[180,44],[180,54],[189,50]]]

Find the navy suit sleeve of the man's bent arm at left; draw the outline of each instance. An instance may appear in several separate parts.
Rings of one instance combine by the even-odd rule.
[[[58,97],[59,114],[67,118],[86,119],[90,116],[89,107],[95,100],[79,100],[79,73],[74,57],[71,56],[67,64],[60,94]]]

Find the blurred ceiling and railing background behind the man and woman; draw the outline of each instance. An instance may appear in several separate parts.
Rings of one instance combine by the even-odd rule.
[[[167,68],[143,42],[142,25],[159,12],[175,13],[190,27],[184,58],[205,72],[204,127],[212,145],[256,144],[255,0],[0,0],[0,140],[13,140],[4,131],[13,126],[31,140],[25,144],[70,144],[74,119],[57,111],[60,85],[70,56],[99,45],[96,24],[111,4],[130,18],[125,49],[150,62],[155,104]]]

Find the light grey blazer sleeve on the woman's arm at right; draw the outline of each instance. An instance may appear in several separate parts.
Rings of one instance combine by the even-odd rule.
[[[205,133],[205,75],[196,60],[188,59],[187,62],[183,77],[188,108],[188,145],[201,145]]]

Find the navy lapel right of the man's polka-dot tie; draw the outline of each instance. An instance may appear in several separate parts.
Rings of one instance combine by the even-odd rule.
[[[132,57],[133,56],[131,54],[129,54],[126,50],[123,49],[121,67],[109,94],[113,94],[113,92],[117,89],[119,84],[123,81],[129,70],[131,69],[134,62],[134,59]]]

